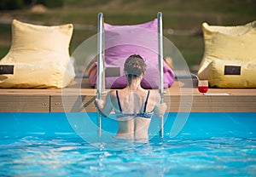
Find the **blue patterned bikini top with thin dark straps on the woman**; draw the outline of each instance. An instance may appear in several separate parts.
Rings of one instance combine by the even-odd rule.
[[[119,100],[119,92],[118,90],[116,90],[116,98],[118,100],[118,104],[119,104],[119,111],[120,113],[116,114],[116,117],[143,117],[143,118],[151,118],[153,116],[153,111],[146,111],[147,105],[148,105],[148,96],[149,96],[149,90],[148,90],[148,95],[147,98],[145,100],[145,104],[144,104],[144,111],[140,112],[140,113],[123,113],[122,112],[122,107],[120,105],[120,100]]]

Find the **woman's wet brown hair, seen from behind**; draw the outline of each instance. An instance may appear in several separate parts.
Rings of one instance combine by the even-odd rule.
[[[125,60],[125,76],[127,78],[128,84],[131,84],[131,80],[142,76],[146,71],[146,63],[138,54],[132,54]]]

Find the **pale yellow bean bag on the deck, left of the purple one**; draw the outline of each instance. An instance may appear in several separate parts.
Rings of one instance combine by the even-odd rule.
[[[13,20],[12,44],[0,66],[14,66],[0,75],[1,88],[63,88],[75,76],[69,43],[73,25],[36,26]]]

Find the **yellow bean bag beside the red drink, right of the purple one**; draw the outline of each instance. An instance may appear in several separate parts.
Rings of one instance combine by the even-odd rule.
[[[256,87],[256,21],[245,26],[208,26],[204,23],[202,30],[205,52],[198,77],[208,79],[211,86],[218,88]],[[224,74],[228,66],[241,66],[240,74]]]

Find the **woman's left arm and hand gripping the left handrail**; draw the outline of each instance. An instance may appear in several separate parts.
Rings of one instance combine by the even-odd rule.
[[[102,114],[103,117],[108,117],[108,115],[110,114],[110,112],[112,111],[112,108],[113,108],[112,104],[111,104],[109,92],[106,96],[106,101],[96,99],[94,104],[95,104],[96,108],[98,109],[98,111]]]

